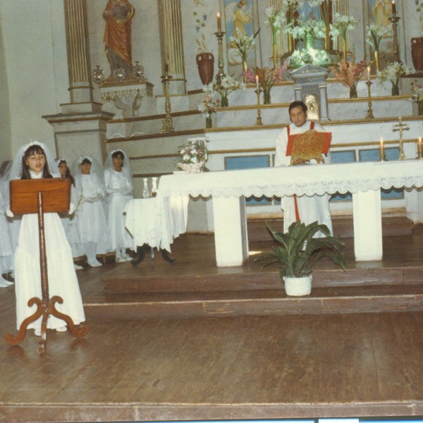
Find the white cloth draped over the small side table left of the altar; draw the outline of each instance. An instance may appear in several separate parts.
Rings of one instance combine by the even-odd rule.
[[[171,252],[173,239],[186,232],[188,197],[171,195],[130,200],[126,206],[125,226],[133,235],[134,250],[148,244]]]

